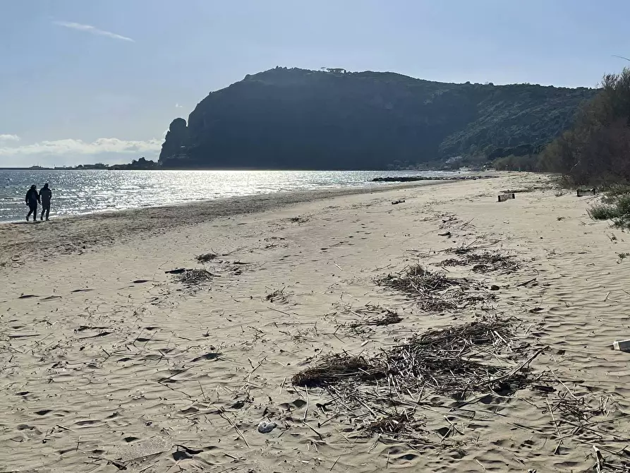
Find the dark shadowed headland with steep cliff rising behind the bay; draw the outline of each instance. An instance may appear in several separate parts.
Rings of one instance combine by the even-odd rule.
[[[177,168],[385,169],[454,155],[501,155],[500,148],[550,142],[595,92],[274,68],[211,92],[188,124],[175,119],[159,162]]]

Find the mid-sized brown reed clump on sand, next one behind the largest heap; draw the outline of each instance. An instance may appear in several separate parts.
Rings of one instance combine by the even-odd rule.
[[[447,277],[423,268],[407,266],[400,273],[389,274],[377,284],[396,289],[418,302],[423,311],[464,309],[470,304],[492,301],[495,294],[474,280]]]

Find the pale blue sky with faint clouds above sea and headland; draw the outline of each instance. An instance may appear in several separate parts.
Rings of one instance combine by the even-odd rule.
[[[0,0],[0,167],[157,160],[170,122],[275,66],[598,85],[627,0]]]

